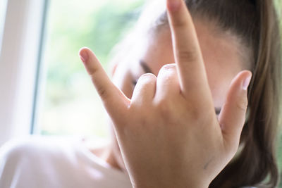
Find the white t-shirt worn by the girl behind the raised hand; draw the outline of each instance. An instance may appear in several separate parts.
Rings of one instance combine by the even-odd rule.
[[[128,174],[111,168],[77,140],[31,137],[0,148],[1,188],[127,188]]]

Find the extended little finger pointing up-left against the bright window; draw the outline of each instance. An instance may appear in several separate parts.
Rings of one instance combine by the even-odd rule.
[[[102,65],[90,49],[80,49],[79,56],[103,101],[106,111],[114,122],[120,120],[126,112],[130,102],[129,99],[111,82]]]

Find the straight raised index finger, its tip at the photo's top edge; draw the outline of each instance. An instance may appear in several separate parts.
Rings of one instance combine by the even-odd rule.
[[[181,91],[198,96],[199,89],[207,92],[209,84],[195,26],[183,0],[166,3]]]

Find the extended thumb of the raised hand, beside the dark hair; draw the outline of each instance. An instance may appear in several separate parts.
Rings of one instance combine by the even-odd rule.
[[[244,70],[231,82],[225,104],[219,115],[219,125],[223,134],[223,139],[228,148],[238,149],[240,134],[245,123],[247,111],[247,87],[250,84],[252,73]]]

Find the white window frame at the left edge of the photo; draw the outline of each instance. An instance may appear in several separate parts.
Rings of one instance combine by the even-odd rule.
[[[47,0],[8,0],[6,6],[0,51],[0,146],[32,130]]]

